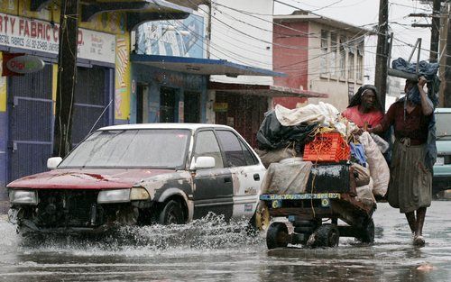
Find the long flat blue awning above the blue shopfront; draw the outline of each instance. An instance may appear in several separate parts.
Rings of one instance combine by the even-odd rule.
[[[284,73],[253,68],[226,59],[199,59],[176,56],[131,54],[133,63],[197,75],[286,77]]]

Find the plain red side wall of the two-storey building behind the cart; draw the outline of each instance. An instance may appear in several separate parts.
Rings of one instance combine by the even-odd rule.
[[[274,70],[288,75],[274,77],[274,85],[308,89],[308,23],[274,23],[273,41]],[[274,97],[272,100],[274,105],[290,109],[306,102],[306,98],[296,97]]]

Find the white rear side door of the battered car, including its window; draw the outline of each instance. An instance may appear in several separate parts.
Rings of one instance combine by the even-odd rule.
[[[216,130],[226,168],[234,184],[233,217],[252,217],[266,169],[241,136],[229,130]]]

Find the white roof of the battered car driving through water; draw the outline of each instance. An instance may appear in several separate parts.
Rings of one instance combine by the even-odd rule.
[[[133,130],[133,129],[188,129],[190,131],[196,131],[199,128],[224,128],[232,129],[229,126],[222,124],[210,124],[210,123],[136,123],[136,124],[120,124],[111,125],[98,129],[99,131],[110,130]]]

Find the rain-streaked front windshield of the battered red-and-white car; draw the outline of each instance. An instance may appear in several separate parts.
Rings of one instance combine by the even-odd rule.
[[[179,168],[189,130],[140,129],[94,132],[59,168]]]

